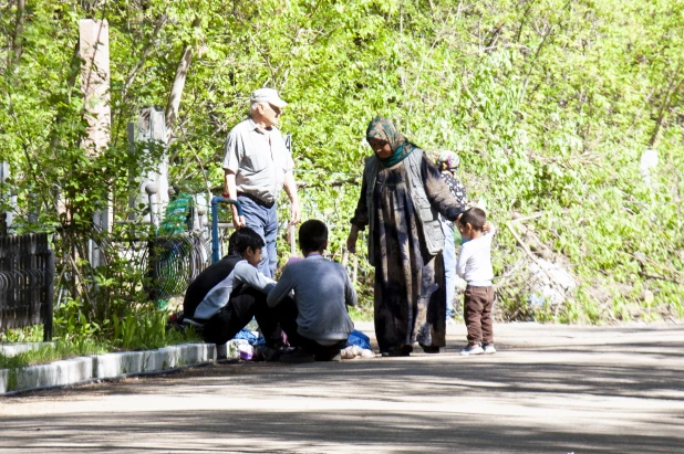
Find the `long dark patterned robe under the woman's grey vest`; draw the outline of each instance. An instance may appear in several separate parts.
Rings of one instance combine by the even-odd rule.
[[[426,251],[404,162],[381,168],[373,194],[375,231],[369,234],[374,235],[375,243],[375,251],[370,253],[375,255],[375,336],[381,352],[398,351],[415,341],[423,347],[445,346],[444,261],[442,254]],[[446,219],[455,219],[464,207],[425,155],[421,175],[432,205]],[[369,224],[366,187],[364,180],[351,220],[360,230]]]

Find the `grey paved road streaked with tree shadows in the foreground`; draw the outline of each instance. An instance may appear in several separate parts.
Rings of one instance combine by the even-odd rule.
[[[0,398],[0,452],[684,453],[683,325],[497,325],[499,353],[473,358],[449,329],[441,355]]]

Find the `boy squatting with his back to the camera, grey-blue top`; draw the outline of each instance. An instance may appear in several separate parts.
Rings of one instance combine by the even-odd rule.
[[[304,222],[299,229],[299,246],[304,260],[286,265],[267,299],[270,307],[281,306],[277,307],[280,324],[290,345],[299,347],[283,353],[280,361],[339,361],[340,350],[354,329],[346,306],[356,305],[356,291],[342,265],[323,258],[328,247],[323,222]],[[282,307],[291,304],[286,298],[290,291],[294,291],[297,307]]]

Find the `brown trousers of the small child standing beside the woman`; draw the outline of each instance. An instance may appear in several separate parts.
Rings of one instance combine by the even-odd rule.
[[[491,306],[494,287],[474,287],[468,285],[463,302],[463,314],[468,328],[468,344],[494,344],[491,325]]]

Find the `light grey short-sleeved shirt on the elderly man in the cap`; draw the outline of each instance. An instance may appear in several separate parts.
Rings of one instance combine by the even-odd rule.
[[[294,162],[277,127],[265,131],[247,118],[228,133],[222,167],[236,173],[238,192],[274,202]]]

